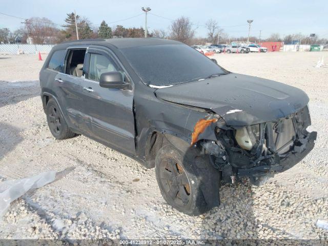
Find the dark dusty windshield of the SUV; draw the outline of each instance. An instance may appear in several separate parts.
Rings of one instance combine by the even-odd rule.
[[[169,86],[228,72],[187,45],[120,49],[145,84]]]

